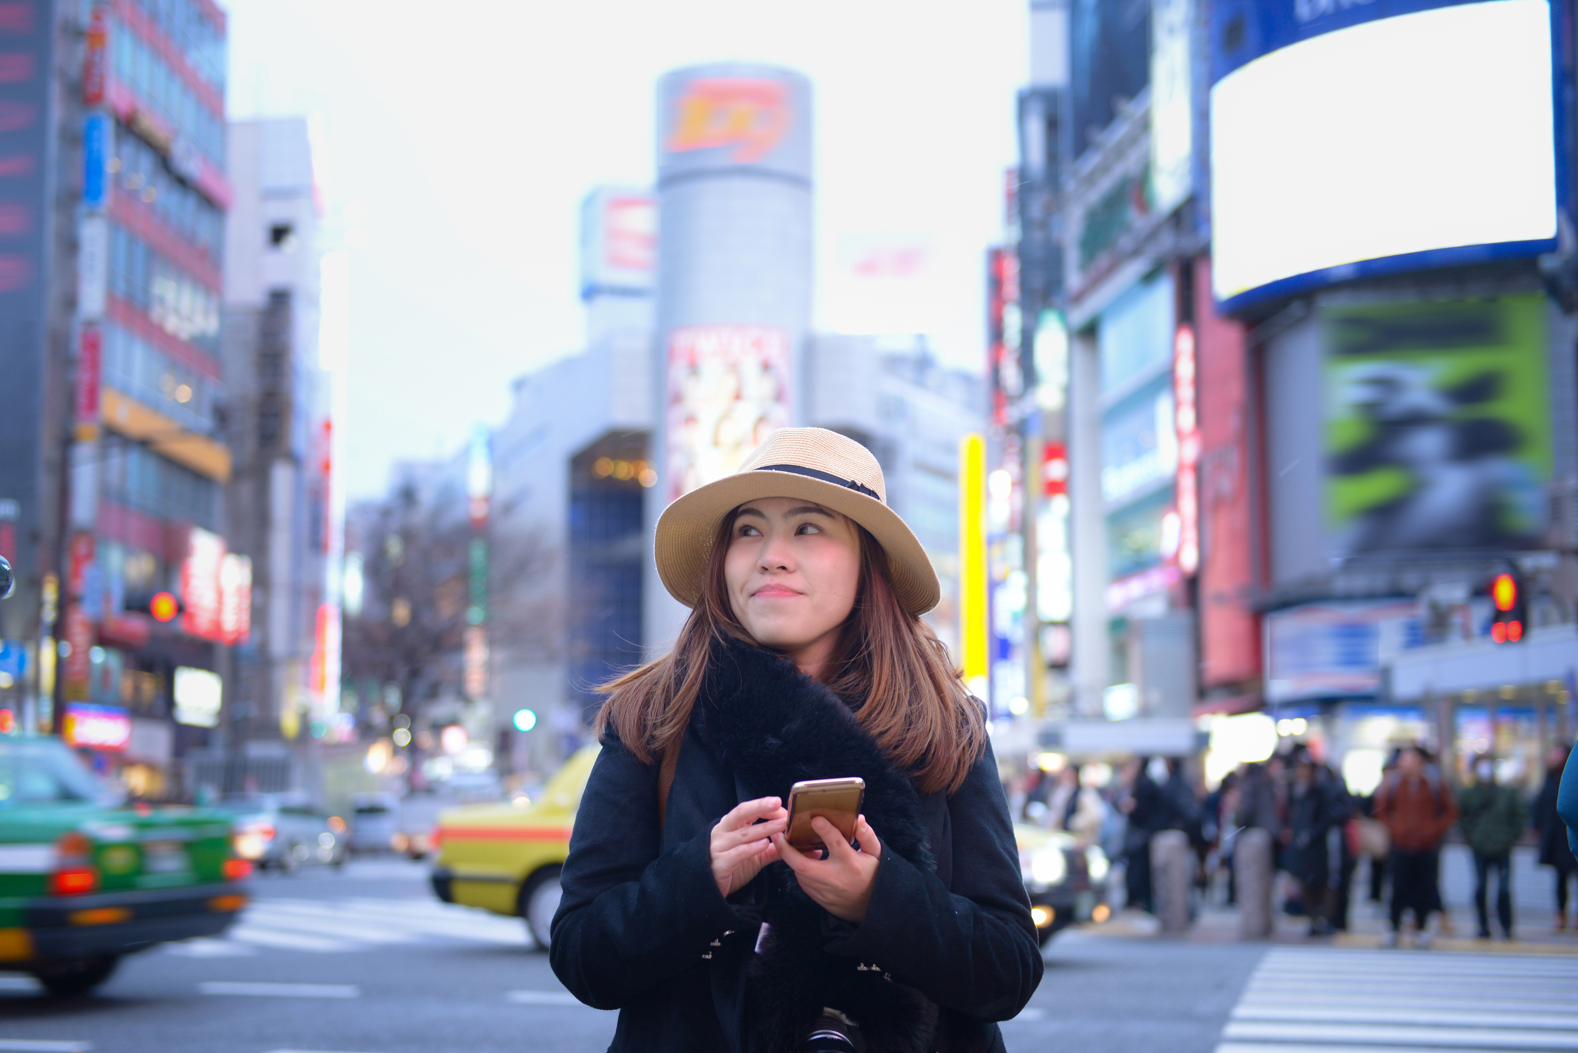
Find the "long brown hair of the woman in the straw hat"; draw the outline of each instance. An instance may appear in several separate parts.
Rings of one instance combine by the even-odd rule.
[[[735,512],[718,525],[705,585],[674,649],[601,686],[608,701],[598,709],[596,735],[612,725],[642,763],[685,735],[713,638],[756,645],[734,616],[723,575]],[[899,605],[882,545],[858,523],[855,530],[860,586],[824,681],[858,705],[860,725],[922,793],[952,793],[986,749],[983,714],[931,626]]]

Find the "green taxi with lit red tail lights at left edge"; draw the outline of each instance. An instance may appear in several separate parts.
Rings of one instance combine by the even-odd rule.
[[[122,955],[224,932],[249,870],[224,817],[106,806],[60,739],[0,736],[0,971],[88,992]]]

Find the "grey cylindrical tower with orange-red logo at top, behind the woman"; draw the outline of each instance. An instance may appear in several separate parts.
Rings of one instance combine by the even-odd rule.
[[[669,501],[734,471],[797,422],[811,322],[811,85],[787,69],[693,66],[658,82],[660,484]],[[649,549],[650,550],[650,549]],[[661,653],[685,608],[647,567],[644,635]]]

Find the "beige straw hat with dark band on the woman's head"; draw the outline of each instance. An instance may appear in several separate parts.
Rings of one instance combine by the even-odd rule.
[[[762,497],[797,497],[843,512],[887,552],[898,602],[912,615],[937,605],[937,572],[915,533],[887,506],[882,465],[865,446],[825,427],[781,427],[732,476],[679,498],[658,517],[653,555],[664,588],[694,607],[718,523]]]

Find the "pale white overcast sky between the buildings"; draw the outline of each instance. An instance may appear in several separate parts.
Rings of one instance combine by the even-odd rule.
[[[677,66],[811,77],[819,329],[925,331],[982,367],[1027,0],[222,3],[230,117],[316,117],[349,230],[352,497],[500,422],[513,377],[579,348],[579,202],[652,183],[653,87]],[[884,241],[925,249],[901,295],[851,273]]]

